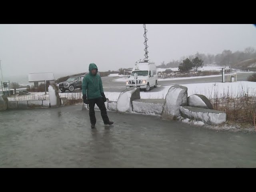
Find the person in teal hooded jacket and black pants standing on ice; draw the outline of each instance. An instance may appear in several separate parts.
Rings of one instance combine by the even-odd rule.
[[[100,114],[102,116],[105,125],[112,125],[114,122],[110,121],[108,118],[106,106],[106,97],[102,87],[102,80],[98,73],[98,68],[96,64],[91,63],[89,65],[89,74],[83,78],[82,92],[83,101],[85,104],[89,104],[89,116],[91,127],[95,128],[96,117],[94,106],[95,104],[100,108]]]

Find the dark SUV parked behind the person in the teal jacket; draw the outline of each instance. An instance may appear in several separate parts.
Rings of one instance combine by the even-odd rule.
[[[82,79],[83,76],[76,76],[76,77],[70,77],[68,80],[59,83],[59,89],[62,93],[64,93],[66,90],[69,90],[70,92],[74,91],[76,88],[82,89]]]

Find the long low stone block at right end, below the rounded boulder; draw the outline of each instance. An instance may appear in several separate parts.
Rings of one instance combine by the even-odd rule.
[[[208,125],[218,125],[226,122],[226,113],[217,110],[180,106],[181,116],[192,120],[199,120]]]

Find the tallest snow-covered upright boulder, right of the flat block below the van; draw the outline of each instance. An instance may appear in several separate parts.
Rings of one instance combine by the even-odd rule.
[[[165,97],[162,118],[175,119],[180,116],[180,106],[188,105],[188,88],[180,85],[171,86]]]

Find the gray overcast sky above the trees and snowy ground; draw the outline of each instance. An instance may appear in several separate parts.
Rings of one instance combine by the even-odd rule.
[[[160,64],[181,56],[256,48],[252,24],[147,24],[148,56]],[[134,66],[144,58],[142,24],[1,24],[3,75],[72,74]]]

